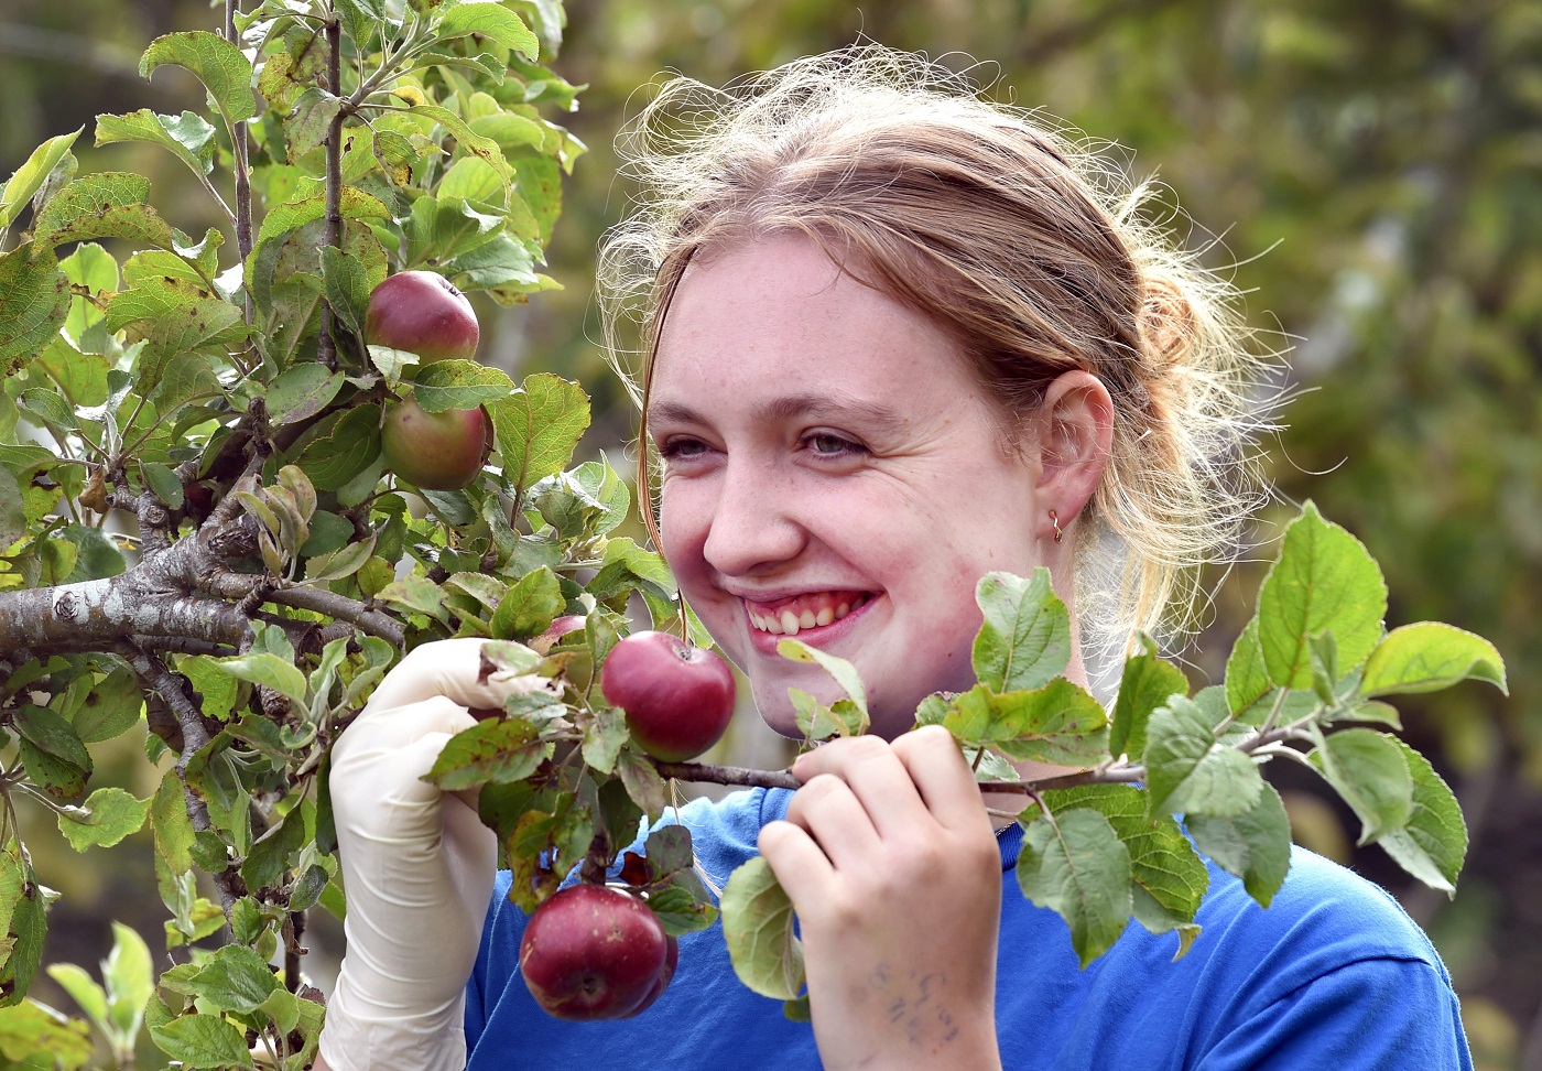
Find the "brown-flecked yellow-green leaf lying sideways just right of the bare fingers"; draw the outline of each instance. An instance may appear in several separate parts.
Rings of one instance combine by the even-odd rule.
[[[970,747],[1018,761],[1092,765],[1109,753],[1103,704],[1066,677],[1002,694],[975,685],[948,702],[941,724]]]

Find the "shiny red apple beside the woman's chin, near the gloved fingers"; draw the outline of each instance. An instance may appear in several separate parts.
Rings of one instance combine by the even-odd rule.
[[[606,699],[626,711],[638,747],[685,762],[712,747],[734,715],[734,674],[715,651],[668,633],[632,633],[600,670]]]

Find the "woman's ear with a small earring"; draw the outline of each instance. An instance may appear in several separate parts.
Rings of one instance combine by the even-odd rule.
[[[1113,443],[1113,398],[1090,372],[1064,372],[1039,404],[1038,497],[1070,528],[1092,498]]]

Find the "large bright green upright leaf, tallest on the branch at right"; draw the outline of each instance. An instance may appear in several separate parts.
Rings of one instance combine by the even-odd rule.
[[[1311,640],[1328,630],[1343,670],[1360,665],[1380,640],[1385,616],[1386,583],[1375,559],[1308,502],[1286,528],[1280,560],[1258,591],[1258,644],[1269,681],[1311,688]]]

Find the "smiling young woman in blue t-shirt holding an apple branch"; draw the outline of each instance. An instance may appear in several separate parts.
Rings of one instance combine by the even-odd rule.
[[[779,634],[870,690],[873,735],[800,758],[799,792],[682,813],[709,873],[759,850],[786,887],[813,1025],[740,986],[717,929],[680,941],[643,1015],[534,1005],[489,833],[418,779],[510,687],[450,640],[409,654],[335,753],[348,951],[324,1063],[1470,1066],[1429,943],[1308,853],[1269,911],[1212,867],[1178,963],[1132,926],[1079,969],[1059,917],[1002,895],[1018,827],[947,733],[910,731],[922,696],[971,684],[984,573],[1045,565],[1082,637],[1123,636],[1246,514],[1247,340],[1226,287],[1141,225],[1141,191],[876,48],[672,83],[631,147],[648,194],[604,265],[614,315],[643,296],[658,545],[774,728],[794,728],[788,687],[833,698]]]

